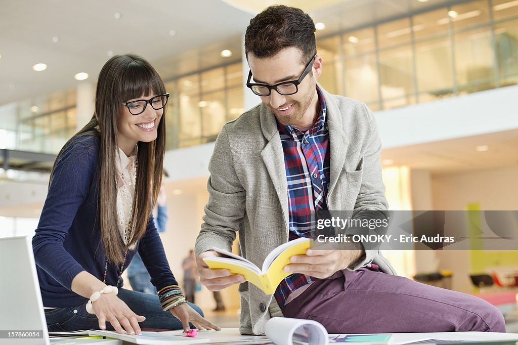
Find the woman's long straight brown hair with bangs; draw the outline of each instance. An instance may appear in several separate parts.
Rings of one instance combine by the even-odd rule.
[[[94,183],[99,186],[97,212],[106,258],[115,264],[123,262],[126,251],[126,245],[117,226],[117,168],[115,164],[118,154],[117,119],[123,111],[122,103],[128,99],[161,95],[165,92],[164,82],[146,60],[134,54],[113,56],[99,73],[95,93],[95,112],[92,119],[70,139],[73,140],[87,133],[100,136],[97,176],[94,180]],[[128,228],[133,231],[128,246],[136,243],[145,234],[147,222],[160,192],[165,154],[165,112],[164,108],[157,128],[156,140],[139,141],[137,144],[137,179],[133,212],[128,225]],[[78,164],[81,163],[78,162]],[[50,180],[52,180],[52,174]]]

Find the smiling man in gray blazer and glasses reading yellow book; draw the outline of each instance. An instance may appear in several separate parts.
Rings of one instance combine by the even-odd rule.
[[[262,104],[227,123],[209,164],[209,202],[196,241],[198,274],[209,290],[241,283],[241,333],[263,334],[284,315],[330,333],[505,332],[501,313],[476,297],[397,277],[378,250],[314,250],[291,258],[293,275],[265,295],[228,270],[209,269],[212,247],[261,267],[282,243],[310,235],[313,211],[385,211],[375,118],[355,100],[330,95],[316,79],[315,28],[303,11],[271,6],[250,21],[247,86]]]

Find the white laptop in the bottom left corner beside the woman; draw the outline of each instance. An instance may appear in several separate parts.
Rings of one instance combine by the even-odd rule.
[[[21,333],[21,334],[20,334]],[[20,336],[32,336],[21,338]],[[0,344],[65,345],[49,340],[30,237],[0,238]],[[81,339],[81,344],[122,344],[120,340]]]

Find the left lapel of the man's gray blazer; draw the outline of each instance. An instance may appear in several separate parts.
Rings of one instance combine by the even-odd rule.
[[[277,129],[277,122],[274,114],[272,114],[264,105],[261,104],[261,130],[265,138],[268,140],[265,148],[261,151],[261,157],[270,179],[274,184],[277,197],[282,207],[282,215],[284,216],[284,223],[286,231],[288,228],[288,196],[287,196],[287,182],[286,182],[286,168],[284,166],[284,153],[282,151],[281,139],[279,137],[279,130]],[[286,233],[287,235],[287,233]]]

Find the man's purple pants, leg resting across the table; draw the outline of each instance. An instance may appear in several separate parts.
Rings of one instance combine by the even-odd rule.
[[[329,333],[506,332],[502,313],[481,298],[364,268],[316,280],[282,313]]]

